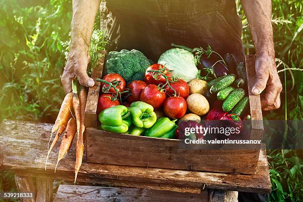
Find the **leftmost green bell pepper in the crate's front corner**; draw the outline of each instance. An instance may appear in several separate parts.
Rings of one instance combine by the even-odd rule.
[[[101,129],[113,133],[125,133],[131,125],[130,112],[126,106],[117,105],[104,109],[99,114]]]

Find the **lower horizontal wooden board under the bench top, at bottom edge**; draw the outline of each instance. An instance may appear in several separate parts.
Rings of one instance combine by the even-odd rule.
[[[134,188],[60,185],[53,202],[207,202],[208,192],[178,193]]]

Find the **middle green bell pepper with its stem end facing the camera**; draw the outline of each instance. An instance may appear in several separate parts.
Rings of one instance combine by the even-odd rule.
[[[152,105],[143,101],[131,103],[128,109],[132,115],[133,124],[138,128],[151,128],[157,120]]]

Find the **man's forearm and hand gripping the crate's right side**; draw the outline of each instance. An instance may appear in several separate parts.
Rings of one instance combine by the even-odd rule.
[[[282,84],[275,64],[271,0],[241,0],[241,4],[250,24],[257,55],[255,60],[257,79],[252,93],[258,95],[265,89],[265,96],[261,99],[262,109],[277,109],[281,104]]]

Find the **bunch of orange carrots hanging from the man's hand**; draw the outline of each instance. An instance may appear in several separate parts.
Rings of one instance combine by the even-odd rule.
[[[80,166],[82,164],[83,152],[84,152],[84,143],[85,143],[85,125],[84,125],[84,114],[85,106],[87,100],[87,93],[84,87],[81,87],[79,96],[77,91],[77,82],[76,79],[72,81],[72,92],[66,94],[57,119],[51,128],[50,140],[52,134],[56,133],[51,145],[50,141],[48,144],[48,155],[45,163],[45,169],[47,167],[48,158],[51,150],[54,145],[59,140],[62,134],[63,138],[61,140],[60,149],[58,153],[58,159],[55,166],[54,172],[56,172],[56,167],[59,161],[64,158],[64,156],[69,151],[72,141],[77,134],[77,150],[76,150],[76,163],[75,163],[75,183],[77,179],[77,174],[79,172]],[[72,112],[74,111],[74,113]],[[50,146],[50,147],[49,147]]]

